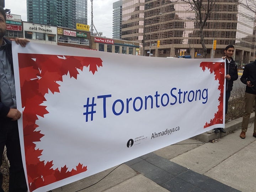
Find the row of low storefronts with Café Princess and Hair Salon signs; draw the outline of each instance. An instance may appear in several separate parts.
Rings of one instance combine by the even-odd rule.
[[[79,24],[76,29],[72,29],[22,21],[20,15],[7,14],[6,17],[5,37],[9,39],[20,37],[27,38],[33,43],[94,49],[109,53],[139,54],[138,42],[91,36],[87,25]]]

